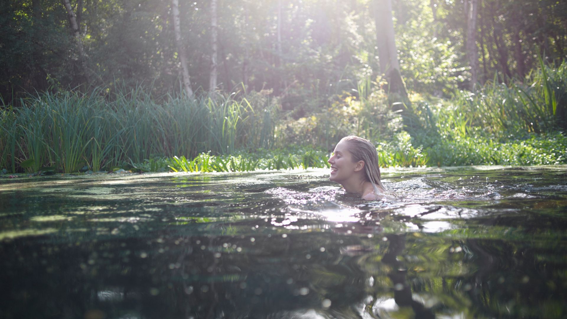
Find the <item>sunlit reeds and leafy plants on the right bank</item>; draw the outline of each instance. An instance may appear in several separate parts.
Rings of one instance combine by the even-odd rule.
[[[428,165],[552,165],[567,163],[565,123],[567,62],[541,68],[529,85],[494,81],[476,94],[417,103],[421,130],[411,131]],[[553,83],[553,84],[551,84]]]

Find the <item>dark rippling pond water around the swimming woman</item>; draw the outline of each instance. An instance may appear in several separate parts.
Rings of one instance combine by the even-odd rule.
[[[567,166],[0,180],[2,318],[567,316]]]

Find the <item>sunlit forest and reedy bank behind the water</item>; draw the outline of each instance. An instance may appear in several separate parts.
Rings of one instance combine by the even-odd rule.
[[[567,163],[566,44],[558,0],[6,0],[0,169]]]

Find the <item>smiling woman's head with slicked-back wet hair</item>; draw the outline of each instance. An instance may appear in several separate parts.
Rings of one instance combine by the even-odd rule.
[[[338,142],[334,153],[329,158],[331,181],[341,183],[359,174],[372,183],[375,192],[384,191],[380,182],[378,153],[369,140],[354,135],[346,136]]]

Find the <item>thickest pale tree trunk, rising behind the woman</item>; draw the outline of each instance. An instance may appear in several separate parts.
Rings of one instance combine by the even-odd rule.
[[[404,80],[401,78],[400,64],[397,61],[397,49],[393,32],[392,1],[375,1],[376,45],[380,60],[380,72],[388,81],[390,92],[399,94],[404,102],[408,102]]]

